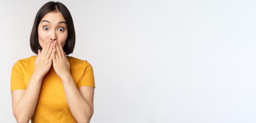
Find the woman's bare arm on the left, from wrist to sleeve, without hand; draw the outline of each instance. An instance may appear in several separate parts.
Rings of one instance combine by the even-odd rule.
[[[41,90],[42,78],[33,73],[26,90],[12,91],[12,111],[18,123],[28,123],[33,116]],[[22,93],[24,94],[22,95]]]

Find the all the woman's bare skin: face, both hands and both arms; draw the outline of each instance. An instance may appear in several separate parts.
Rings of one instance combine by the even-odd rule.
[[[42,22],[47,20],[49,22]],[[63,83],[65,96],[72,115],[78,123],[89,123],[93,115],[94,87],[77,86],[70,74],[70,64],[63,47],[68,36],[67,25],[58,24],[65,19],[60,12],[47,13],[38,27],[39,44],[35,70],[26,90],[12,91],[13,114],[19,123],[28,123],[33,116],[39,98],[42,79],[54,68]],[[64,30],[62,30],[64,28]]]

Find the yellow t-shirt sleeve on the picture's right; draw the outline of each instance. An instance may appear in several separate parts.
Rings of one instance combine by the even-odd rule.
[[[79,87],[81,86],[93,86],[95,89],[93,68],[92,65],[87,61],[85,61],[85,71],[83,72],[83,77]]]

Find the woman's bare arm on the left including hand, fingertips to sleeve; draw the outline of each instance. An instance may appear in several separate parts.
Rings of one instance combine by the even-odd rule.
[[[42,52],[38,50],[35,70],[25,92],[12,91],[13,115],[18,123],[28,123],[33,116],[41,90],[42,79],[50,70],[51,65],[52,41],[47,40],[47,44],[43,47]],[[23,92],[24,94],[22,94]]]

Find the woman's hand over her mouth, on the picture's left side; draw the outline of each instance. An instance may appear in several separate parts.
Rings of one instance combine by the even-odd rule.
[[[36,73],[40,77],[44,77],[51,68],[53,54],[52,49],[52,41],[47,40],[47,44],[42,48],[42,52],[38,50],[38,54],[35,60],[34,73]]]

